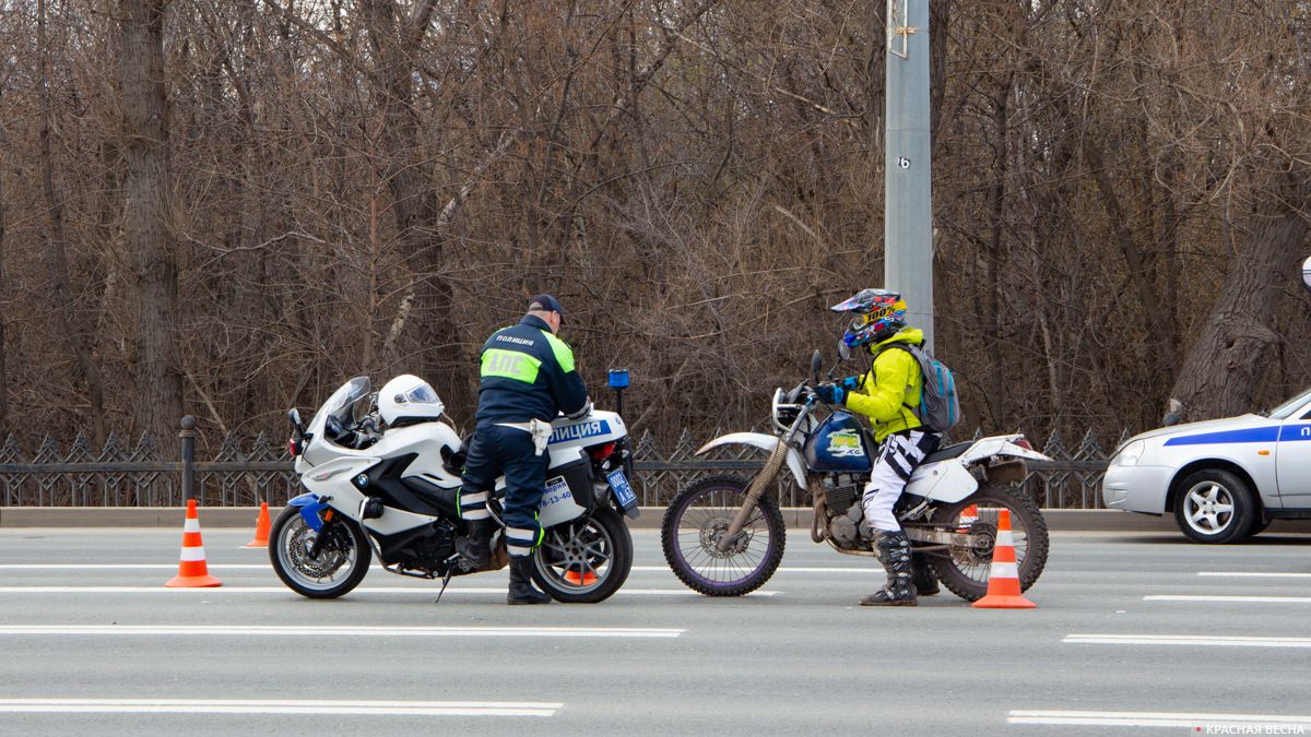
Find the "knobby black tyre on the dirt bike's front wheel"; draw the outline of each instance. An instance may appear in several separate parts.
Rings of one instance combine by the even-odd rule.
[[[779,564],[783,561],[783,551],[787,547],[787,528],[783,523],[783,513],[779,510],[779,502],[773,501],[770,496],[760,497],[756,506],[764,515],[764,523],[770,531],[770,547],[760,564],[747,577],[732,584],[709,582],[691,569],[679,552],[679,522],[682,522],[692,501],[708,489],[730,490],[739,501],[745,501],[749,487],[750,481],[739,476],[709,476],[688,485],[670,502],[669,509],[665,511],[665,519],[661,523],[661,548],[665,551],[665,561],[669,564],[670,570],[688,589],[708,597],[741,597],[763,586],[773,576],[773,572],[777,570]],[[732,513],[729,514],[729,519],[732,519]]]

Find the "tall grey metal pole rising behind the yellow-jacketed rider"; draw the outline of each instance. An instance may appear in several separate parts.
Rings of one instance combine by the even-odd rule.
[[[888,0],[884,286],[933,345],[933,209],[929,167],[928,0]]]

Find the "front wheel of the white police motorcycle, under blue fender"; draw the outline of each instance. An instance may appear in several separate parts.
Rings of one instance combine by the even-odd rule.
[[[319,555],[309,556],[320,535],[326,535]],[[336,599],[359,585],[368,573],[372,551],[364,531],[350,518],[337,515],[317,532],[299,506],[282,510],[269,530],[269,560],[288,589],[311,599]]]

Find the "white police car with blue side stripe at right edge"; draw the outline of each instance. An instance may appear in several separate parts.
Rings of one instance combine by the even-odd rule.
[[[1232,543],[1272,519],[1311,518],[1311,389],[1266,414],[1130,438],[1101,483],[1108,509],[1175,513],[1198,543]]]

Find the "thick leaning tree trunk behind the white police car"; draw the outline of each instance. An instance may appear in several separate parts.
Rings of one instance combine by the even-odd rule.
[[[1285,289],[1294,289],[1303,257],[1311,205],[1306,172],[1283,174],[1285,182],[1256,206],[1245,248],[1230,257],[1228,275],[1211,307],[1206,327],[1189,349],[1171,396],[1183,403],[1185,422],[1252,412],[1266,349],[1280,341],[1270,329]]]

